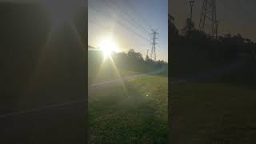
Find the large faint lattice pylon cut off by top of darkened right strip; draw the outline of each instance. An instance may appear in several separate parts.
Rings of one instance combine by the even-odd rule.
[[[216,0],[204,0],[202,4],[202,13],[199,23],[199,31],[205,31],[206,23],[210,22],[211,36],[217,38],[218,35],[218,21]]]

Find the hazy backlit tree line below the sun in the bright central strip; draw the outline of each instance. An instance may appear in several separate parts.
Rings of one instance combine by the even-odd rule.
[[[88,54],[88,63],[90,71],[98,71],[100,67],[104,69],[112,69],[113,63],[118,70],[146,72],[158,69],[162,66],[167,66],[167,62],[163,60],[154,61],[148,56],[143,58],[143,55],[136,52],[134,49],[128,52],[113,52],[110,58],[105,58],[102,51],[90,50]]]

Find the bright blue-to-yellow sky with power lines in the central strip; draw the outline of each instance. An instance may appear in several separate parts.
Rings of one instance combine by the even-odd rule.
[[[113,37],[122,51],[146,57],[150,27],[158,28],[157,60],[168,60],[168,0],[88,0],[88,43]],[[150,51],[149,51],[150,56]]]

